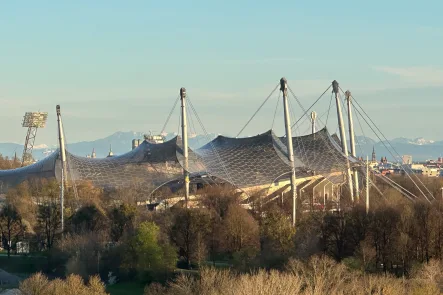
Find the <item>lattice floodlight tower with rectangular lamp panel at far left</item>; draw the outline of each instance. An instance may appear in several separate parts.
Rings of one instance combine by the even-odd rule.
[[[35,137],[37,136],[37,129],[46,126],[48,113],[44,112],[26,112],[23,117],[22,126],[28,128],[26,134],[25,146],[23,148],[22,166],[25,162],[31,161],[32,149],[34,148]]]

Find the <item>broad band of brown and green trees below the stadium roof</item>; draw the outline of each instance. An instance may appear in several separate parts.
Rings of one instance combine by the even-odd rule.
[[[432,181],[429,187],[437,190],[440,180]],[[137,206],[143,192],[105,191],[84,182],[76,194],[66,191],[61,232],[59,184],[26,182],[7,193],[0,230],[8,253],[16,242],[28,241],[31,251],[47,257],[42,271],[58,277],[172,284],[177,269],[284,274],[294,259],[330,257],[360,274],[413,278],[418,266],[442,260],[443,203],[411,202],[381,189],[383,196],[371,191],[369,214],[363,204],[300,212],[294,228],[289,196],[283,203],[253,198],[245,206],[235,190],[217,186],[200,190],[195,208],[155,212]]]

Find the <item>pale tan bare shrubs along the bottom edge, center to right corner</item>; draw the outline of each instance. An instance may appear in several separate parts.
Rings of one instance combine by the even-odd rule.
[[[182,274],[166,287],[152,284],[146,287],[145,295],[430,295],[441,292],[441,271],[441,265],[432,262],[409,280],[365,275],[327,256],[315,256],[308,262],[290,260],[284,271],[236,273],[206,268],[199,277]]]

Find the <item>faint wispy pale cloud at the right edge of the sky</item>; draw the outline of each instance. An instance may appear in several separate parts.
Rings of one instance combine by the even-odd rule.
[[[389,67],[376,66],[374,70],[395,75],[412,86],[443,86],[443,69],[431,66]]]

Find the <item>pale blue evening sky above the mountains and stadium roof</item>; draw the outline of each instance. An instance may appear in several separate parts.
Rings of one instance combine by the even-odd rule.
[[[157,133],[180,87],[208,132],[235,136],[283,76],[305,109],[336,79],[388,138],[443,140],[441,11],[439,0],[0,0],[0,142],[22,143],[24,112],[46,111],[36,144],[56,143],[56,104],[68,143]],[[336,131],[330,98],[314,110]],[[279,100],[241,135],[282,133]],[[178,127],[176,108],[166,131]]]

